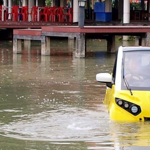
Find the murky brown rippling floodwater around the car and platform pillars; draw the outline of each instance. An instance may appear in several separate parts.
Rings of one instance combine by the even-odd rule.
[[[87,45],[87,57],[77,59],[67,40],[52,40],[50,57],[41,57],[37,42],[13,55],[12,42],[1,41],[0,150],[149,149],[149,123],[109,120],[95,75],[112,71],[115,54],[105,41]]]

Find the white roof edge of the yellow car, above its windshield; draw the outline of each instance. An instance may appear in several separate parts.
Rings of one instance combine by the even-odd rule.
[[[119,47],[119,50],[122,50],[122,51],[143,51],[143,50],[146,50],[146,51],[150,51],[150,47],[143,47],[143,46],[129,46],[129,47]]]

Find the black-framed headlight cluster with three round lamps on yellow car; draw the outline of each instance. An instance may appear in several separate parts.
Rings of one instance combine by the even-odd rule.
[[[122,100],[120,98],[116,98],[116,104],[120,106],[121,108],[125,109],[126,111],[130,112],[134,116],[137,116],[138,114],[141,113],[141,107],[133,104],[131,102]]]

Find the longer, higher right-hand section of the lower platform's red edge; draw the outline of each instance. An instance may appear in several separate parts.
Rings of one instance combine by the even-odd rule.
[[[64,33],[146,33],[150,32],[150,26],[85,26],[79,28],[77,26],[61,26],[61,27],[42,27],[42,32],[64,32]]]

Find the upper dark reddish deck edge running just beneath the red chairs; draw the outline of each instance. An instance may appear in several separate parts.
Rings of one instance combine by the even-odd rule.
[[[33,28],[33,29],[41,29],[42,27],[49,27],[49,26],[78,26],[78,23],[59,23],[59,22],[42,22],[42,21],[36,21],[36,22],[23,22],[23,21],[0,21],[0,28],[12,28],[12,29],[27,29],[27,28]],[[118,27],[118,26],[150,26],[149,21],[132,21],[128,25],[122,24],[120,21],[112,21],[112,22],[95,22],[95,21],[86,21],[85,27],[100,27],[100,26],[107,26],[111,27]]]

